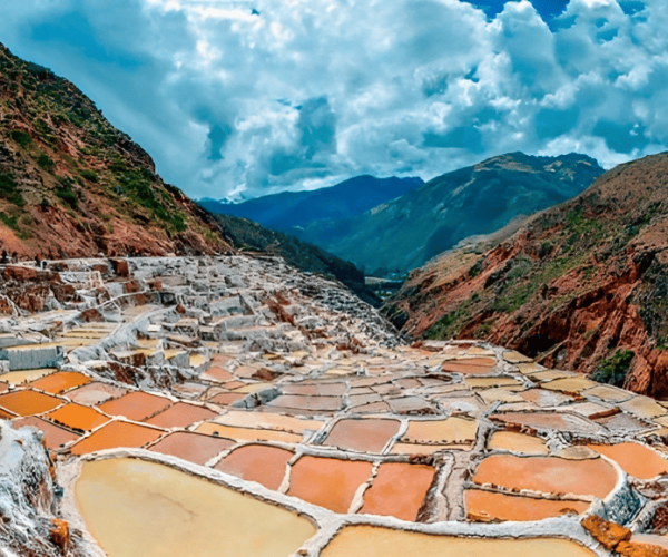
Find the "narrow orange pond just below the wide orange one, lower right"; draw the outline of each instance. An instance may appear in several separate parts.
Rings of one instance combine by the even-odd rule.
[[[586,501],[554,501],[495,494],[481,489],[466,489],[464,491],[464,502],[469,520],[479,521],[490,519],[542,520],[543,518],[558,517],[572,511],[580,515],[589,508],[589,502]]]

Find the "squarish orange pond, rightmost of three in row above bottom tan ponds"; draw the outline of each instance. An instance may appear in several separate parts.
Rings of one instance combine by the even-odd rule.
[[[414,521],[435,473],[431,466],[382,463],[360,512]]]

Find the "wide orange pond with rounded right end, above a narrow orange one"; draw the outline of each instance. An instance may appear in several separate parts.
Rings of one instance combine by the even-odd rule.
[[[529,489],[550,494],[592,495],[605,498],[617,483],[617,470],[602,458],[566,460],[556,457],[485,458],[473,481],[507,489]]]

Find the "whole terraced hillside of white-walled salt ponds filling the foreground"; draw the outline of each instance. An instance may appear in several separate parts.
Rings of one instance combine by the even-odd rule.
[[[0,550],[666,555],[668,402],[279,258],[6,266]],[[262,535],[258,535],[262,525]]]

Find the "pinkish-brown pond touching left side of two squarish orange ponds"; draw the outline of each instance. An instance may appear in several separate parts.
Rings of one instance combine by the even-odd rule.
[[[277,490],[285,476],[285,467],[293,451],[266,444],[246,444],[233,450],[214,468],[249,481],[257,481]]]

